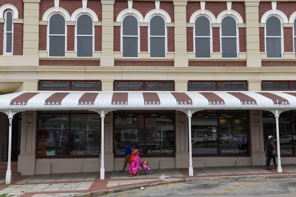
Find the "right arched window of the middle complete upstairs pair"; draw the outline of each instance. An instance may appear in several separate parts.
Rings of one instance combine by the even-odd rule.
[[[151,58],[166,57],[166,26],[161,16],[153,16],[149,23],[149,52]]]

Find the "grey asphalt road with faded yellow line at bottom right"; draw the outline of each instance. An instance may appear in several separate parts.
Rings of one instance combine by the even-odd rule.
[[[174,183],[106,197],[296,197],[296,180]]]

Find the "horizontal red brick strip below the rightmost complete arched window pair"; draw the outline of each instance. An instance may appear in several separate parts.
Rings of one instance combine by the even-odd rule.
[[[212,61],[189,61],[189,66],[247,66],[246,62],[212,62]]]

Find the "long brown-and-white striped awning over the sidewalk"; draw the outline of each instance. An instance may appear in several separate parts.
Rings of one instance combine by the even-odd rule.
[[[0,109],[296,108],[296,92],[20,92]]]

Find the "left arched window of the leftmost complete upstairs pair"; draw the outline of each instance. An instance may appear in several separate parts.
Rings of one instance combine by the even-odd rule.
[[[65,57],[66,22],[61,14],[54,14],[49,19],[49,56]]]

